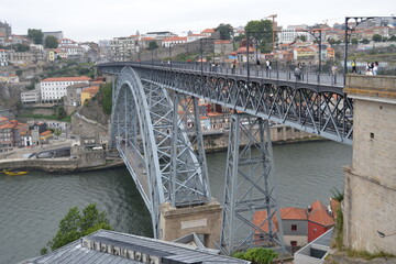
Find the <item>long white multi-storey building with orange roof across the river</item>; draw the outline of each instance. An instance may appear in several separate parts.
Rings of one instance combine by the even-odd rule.
[[[75,84],[89,84],[91,78],[87,76],[81,77],[57,77],[43,79],[40,82],[41,97],[44,102],[57,101],[66,96],[66,87]]]

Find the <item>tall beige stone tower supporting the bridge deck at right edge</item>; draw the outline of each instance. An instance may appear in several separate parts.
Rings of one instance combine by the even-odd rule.
[[[350,75],[344,92],[354,100],[354,133],[352,165],[344,168],[343,243],[396,254],[396,77]]]

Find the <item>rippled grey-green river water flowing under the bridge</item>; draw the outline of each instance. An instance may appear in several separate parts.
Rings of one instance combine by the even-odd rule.
[[[282,207],[324,204],[343,189],[352,147],[330,141],[274,145]],[[207,154],[212,195],[223,200],[227,152]],[[0,174],[0,264],[40,255],[69,208],[96,202],[114,230],[152,235],[150,213],[125,168],[76,174]]]

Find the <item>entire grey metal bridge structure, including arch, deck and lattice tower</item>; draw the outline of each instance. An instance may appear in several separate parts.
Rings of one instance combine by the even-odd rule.
[[[352,143],[353,106],[337,76],[307,75],[296,80],[286,72],[255,70],[246,76],[250,72],[242,68],[233,73],[227,67],[175,62],[172,68],[161,62],[112,63],[99,68],[118,75],[112,144],[146,202],[156,238],[162,202],[178,207],[210,199],[197,98],[250,114],[242,122],[238,114],[232,117],[220,241],[228,254],[256,245],[257,233],[264,245],[283,248],[282,224],[275,229],[273,223],[278,210],[268,120]],[[239,152],[241,134],[249,141]],[[258,166],[263,174],[257,174]],[[267,212],[262,224],[252,223],[255,210]]]

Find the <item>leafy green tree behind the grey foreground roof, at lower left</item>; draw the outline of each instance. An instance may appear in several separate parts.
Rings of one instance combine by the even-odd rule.
[[[59,249],[84,235],[88,235],[99,229],[111,230],[106,212],[96,208],[96,204],[88,205],[82,210],[82,216],[77,207],[73,207],[66,216],[59,221],[56,235],[48,241],[51,250]],[[43,248],[41,252],[46,252]]]

